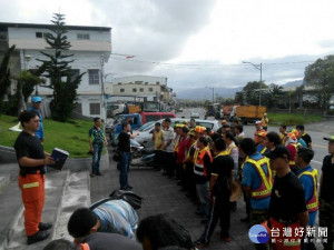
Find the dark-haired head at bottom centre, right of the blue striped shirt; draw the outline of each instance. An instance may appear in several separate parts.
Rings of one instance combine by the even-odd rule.
[[[144,250],[194,250],[189,232],[166,214],[147,217],[140,221],[137,239]]]

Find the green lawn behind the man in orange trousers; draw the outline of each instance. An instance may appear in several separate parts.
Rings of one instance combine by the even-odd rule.
[[[13,147],[19,132],[8,129],[18,123],[16,117],[0,114],[0,144]],[[92,127],[91,121],[70,120],[69,122],[58,122],[51,119],[43,120],[45,150],[51,152],[53,148],[69,151],[70,158],[89,158],[88,130]]]

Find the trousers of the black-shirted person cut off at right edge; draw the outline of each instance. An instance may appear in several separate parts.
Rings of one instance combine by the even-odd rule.
[[[326,227],[328,237],[327,243],[324,243],[324,250],[333,250],[334,242],[334,201],[328,202],[320,199],[320,227]]]

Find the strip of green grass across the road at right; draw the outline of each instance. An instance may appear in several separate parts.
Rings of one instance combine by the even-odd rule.
[[[312,121],[321,121],[322,116],[318,114],[308,114],[305,117],[303,113],[271,113],[268,112],[269,124],[286,124],[286,126],[296,126],[296,124],[306,124]]]

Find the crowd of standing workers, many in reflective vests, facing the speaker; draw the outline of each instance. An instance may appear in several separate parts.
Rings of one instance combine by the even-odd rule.
[[[205,230],[195,246],[209,244],[218,221],[217,237],[226,242],[232,240],[230,211],[236,210],[236,202],[230,201],[230,194],[235,182],[240,182],[246,202],[246,217],[240,221],[249,228],[263,224],[269,234],[278,229],[279,236],[271,239],[273,249],[315,249],[311,229],[318,210],[320,227],[327,228],[323,244],[333,249],[334,137],[324,138],[330,156],[324,158],[318,177],[311,166],[314,151],[304,126],[286,131],[282,124],[279,133],[267,132],[268,119],[264,119],[255,122],[253,138],[245,137],[238,120],[232,124],[223,120],[216,132],[196,126],[194,119],[174,128],[169,119],[155,124],[156,170],[178,180],[181,191],[198,204],[196,214],[203,217]],[[285,228],[304,231],[289,237],[283,233]],[[268,246],[255,244],[256,249]]]

